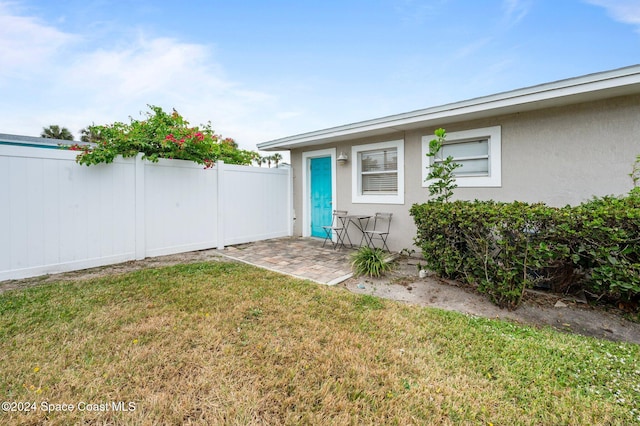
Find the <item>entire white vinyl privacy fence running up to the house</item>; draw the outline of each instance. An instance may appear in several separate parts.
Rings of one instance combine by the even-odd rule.
[[[0,281],[292,235],[290,169],[0,145]]]

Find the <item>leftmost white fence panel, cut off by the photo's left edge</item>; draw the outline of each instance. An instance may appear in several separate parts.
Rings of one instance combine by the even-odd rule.
[[[134,258],[133,161],[90,170],[76,154],[0,147],[0,280]]]

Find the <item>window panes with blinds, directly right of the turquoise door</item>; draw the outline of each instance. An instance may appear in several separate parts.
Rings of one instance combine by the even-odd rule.
[[[385,148],[358,153],[362,195],[398,193],[398,150]]]

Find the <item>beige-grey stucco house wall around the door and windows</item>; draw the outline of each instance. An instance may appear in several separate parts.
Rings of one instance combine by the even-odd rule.
[[[640,96],[511,114],[473,122],[443,126],[448,132],[489,126],[502,129],[502,186],[499,188],[457,188],[458,199],[498,201],[543,201],[554,206],[579,204],[594,195],[624,194],[631,189],[631,171],[640,154]],[[422,136],[424,128],[353,141],[293,150],[294,234],[302,235],[302,153],[336,148],[351,156],[351,146],[404,139],[404,205],[354,204],[351,202],[352,158],[335,165],[337,206],[350,213],[393,213],[392,250],[412,247],[415,226],[409,216],[414,203],[428,199],[422,187]]]

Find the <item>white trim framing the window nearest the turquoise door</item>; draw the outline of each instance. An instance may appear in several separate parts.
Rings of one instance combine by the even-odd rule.
[[[397,194],[362,194],[362,178],[358,153],[385,148],[396,148],[398,152],[398,193]],[[404,140],[355,145],[351,147],[351,202],[368,204],[404,204]]]

